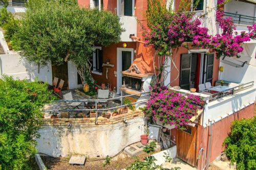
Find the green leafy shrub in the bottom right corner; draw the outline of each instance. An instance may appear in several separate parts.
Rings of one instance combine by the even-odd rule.
[[[235,120],[223,144],[227,157],[237,163],[237,169],[256,169],[256,116]]]

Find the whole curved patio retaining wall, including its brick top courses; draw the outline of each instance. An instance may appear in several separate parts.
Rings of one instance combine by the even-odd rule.
[[[126,119],[123,122],[122,119]],[[68,126],[69,124],[69,126]],[[49,118],[39,130],[38,153],[53,157],[74,154],[87,158],[115,156],[127,145],[140,141],[146,118],[142,111],[133,111],[110,117],[95,118]]]

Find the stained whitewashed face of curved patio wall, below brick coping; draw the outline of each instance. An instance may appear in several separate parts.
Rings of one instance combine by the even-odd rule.
[[[54,157],[71,154],[86,155],[88,158],[115,156],[127,145],[140,141],[139,126],[145,124],[143,117],[122,123],[98,126],[44,127],[39,130],[38,153]]]

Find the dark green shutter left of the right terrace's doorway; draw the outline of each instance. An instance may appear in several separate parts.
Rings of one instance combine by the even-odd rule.
[[[180,87],[186,90],[190,88],[191,56],[182,54],[180,58]]]

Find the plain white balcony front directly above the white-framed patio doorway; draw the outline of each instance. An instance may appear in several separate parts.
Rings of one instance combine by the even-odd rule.
[[[119,16],[122,28],[125,31],[121,34],[121,41],[129,42],[134,41],[130,38],[130,34],[137,35],[137,20],[134,16]]]

